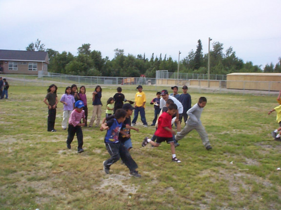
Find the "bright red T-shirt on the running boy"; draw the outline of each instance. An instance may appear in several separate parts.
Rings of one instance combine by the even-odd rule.
[[[155,136],[158,137],[173,137],[173,134],[164,129],[164,127],[168,127],[172,129],[172,116],[169,115],[167,112],[163,112],[158,119],[158,129],[155,132]]]

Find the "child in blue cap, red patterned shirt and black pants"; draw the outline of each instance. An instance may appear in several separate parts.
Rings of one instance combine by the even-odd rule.
[[[82,101],[75,102],[75,109],[71,112],[69,121],[68,121],[68,136],[66,140],[66,146],[68,149],[71,149],[71,142],[74,139],[74,136],[76,134],[77,140],[78,140],[78,153],[84,152],[82,146],[83,146],[83,132],[81,126],[85,126],[85,111],[83,110],[84,103]],[[83,119],[83,123],[81,122],[81,119]]]

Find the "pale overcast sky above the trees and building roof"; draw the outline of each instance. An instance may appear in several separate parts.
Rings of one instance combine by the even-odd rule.
[[[201,39],[232,47],[244,62],[275,65],[281,57],[281,0],[0,0],[0,49],[73,53],[84,43],[102,57],[152,53],[186,57]]]

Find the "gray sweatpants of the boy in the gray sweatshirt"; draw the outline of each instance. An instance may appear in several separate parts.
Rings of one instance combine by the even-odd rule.
[[[184,126],[184,128],[181,130],[181,133],[176,135],[176,140],[177,141],[181,140],[183,137],[185,137],[193,129],[195,129],[199,133],[203,145],[205,147],[209,146],[210,145],[210,141],[209,141],[209,138],[208,138],[208,134],[206,133],[206,130],[205,130],[204,126],[201,125],[201,124],[200,125],[196,125],[196,126],[191,126],[191,125],[186,124]]]

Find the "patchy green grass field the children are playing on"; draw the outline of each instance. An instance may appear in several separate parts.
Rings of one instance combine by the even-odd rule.
[[[84,153],[77,153],[76,139],[73,149],[66,148],[61,103],[58,131],[47,132],[46,89],[11,86],[9,99],[0,101],[0,210],[281,209],[281,142],[270,135],[278,125],[276,113],[267,115],[277,106],[277,95],[192,93],[192,105],[200,96],[208,100],[201,120],[213,150],[207,151],[192,131],[176,148],[181,163],[171,161],[165,143],[141,147],[155,128],[144,128],[139,117],[140,132],[131,131],[130,153],[142,175],[135,178],[120,161],[104,173],[102,161],[109,155],[99,128],[83,128]],[[64,90],[59,87],[59,99]],[[155,97],[155,87],[143,90],[148,100]],[[92,91],[87,89],[89,102]],[[115,92],[116,87],[103,88],[104,105]],[[136,89],[123,93],[133,100]],[[153,117],[147,104],[149,124]]]

